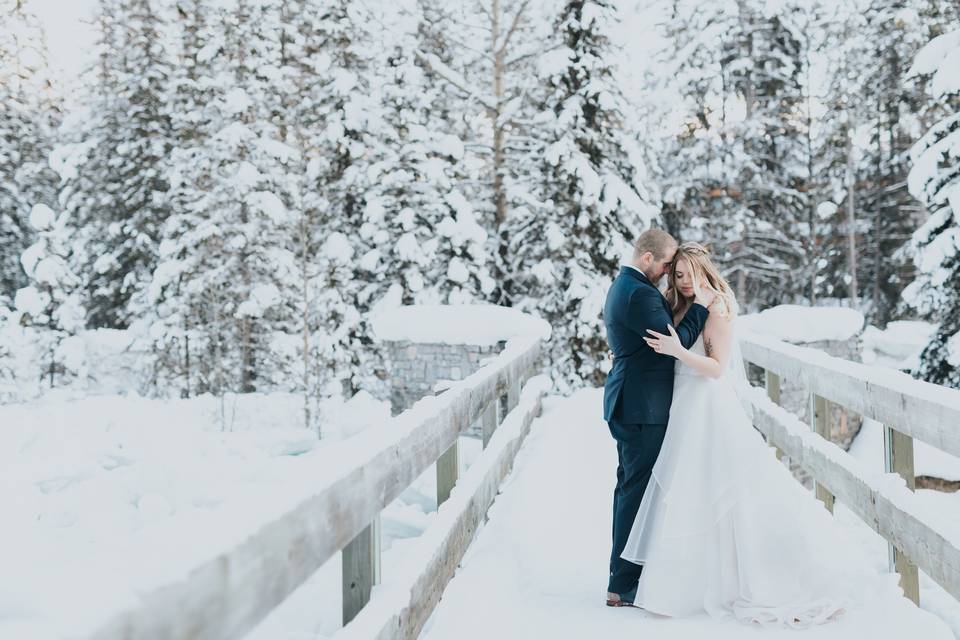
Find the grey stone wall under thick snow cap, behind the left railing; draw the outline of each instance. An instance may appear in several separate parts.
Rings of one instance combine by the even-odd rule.
[[[504,343],[494,345],[384,342],[387,371],[375,395],[390,401],[394,415],[426,395],[433,395],[441,380],[462,380],[480,368],[485,358],[495,356]],[[389,393],[389,397],[384,394]]]

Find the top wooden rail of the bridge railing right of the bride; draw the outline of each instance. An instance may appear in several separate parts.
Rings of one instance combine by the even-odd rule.
[[[960,391],[766,336],[741,336],[744,357],[807,391],[960,456]]]

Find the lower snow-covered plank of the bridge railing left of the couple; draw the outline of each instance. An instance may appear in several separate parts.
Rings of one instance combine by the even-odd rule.
[[[431,528],[418,539],[418,543],[431,545],[429,560],[419,575],[411,578],[411,583],[397,585],[394,589],[394,593],[405,594],[403,600],[398,603],[398,598],[393,596],[379,601],[374,598],[360,613],[356,624],[338,631],[334,640],[414,640],[420,636],[477,529],[484,522],[500,484],[513,468],[513,461],[531,423],[540,413],[549,380],[544,379],[544,384],[537,386],[529,393],[524,391],[519,411],[504,420],[491,441],[491,447],[480,454],[462,479],[465,486],[475,487],[475,490],[469,495],[458,494],[447,502]],[[432,534],[439,535],[431,540]],[[416,550],[408,549],[407,553],[416,553]]]

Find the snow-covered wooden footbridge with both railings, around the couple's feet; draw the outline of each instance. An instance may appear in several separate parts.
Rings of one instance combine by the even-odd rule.
[[[83,637],[240,638],[335,554],[342,554],[347,622],[340,640],[589,638],[631,634],[636,625],[656,629],[645,637],[740,637],[745,630],[736,623],[654,619],[602,605],[615,452],[600,420],[599,390],[544,400],[549,383],[534,375],[540,351],[537,340],[513,340],[470,377],[393,418],[389,441],[382,432],[380,440],[355,436],[349,446],[357,463],[309,499],[184,579],[140,594],[135,606]],[[925,636],[931,639],[952,637],[907,600],[919,600],[918,568],[960,598],[960,532],[925,512],[912,493],[912,443],[960,456],[960,392],[758,336],[748,337],[743,351],[765,375],[765,389],[742,397],[757,429],[815,478],[828,508],[845,504],[889,541],[906,594],[812,631],[893,638],[924,628],[935,630]],[[777,405],[781,379],[809,392],[812,425]],[[869,473],[820,435],[831,404],[885,425],[890,473]],[[458,478],[458,436],[478,422],[484,450]],[[498,497],[518,452],[524,461]],[[374,589],[381,581],[379,513],[431,466],[437,517],[407,550],[412,569]]]

